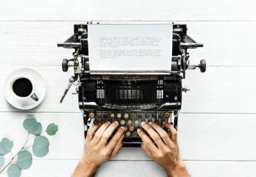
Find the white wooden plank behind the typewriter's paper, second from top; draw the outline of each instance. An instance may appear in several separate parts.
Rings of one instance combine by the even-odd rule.
[[[81,22],[1,22],[0,58],[8,65],[60,65],[74,50],[56,44],[74,33],[76,23]],[[207,66],[256,66],[256,22],[175,23],[187,24],[189,36],[204,43],[203,48],[189,50],[191,63],[206,59]]]

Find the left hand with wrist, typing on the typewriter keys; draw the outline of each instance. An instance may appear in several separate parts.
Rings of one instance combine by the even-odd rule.
[[[124,127],[120,127],[109,143],[118,122],[93,125],[86,136],[84,153],[73,176],[93,176],[100,164],[114,157],[123,145]]]

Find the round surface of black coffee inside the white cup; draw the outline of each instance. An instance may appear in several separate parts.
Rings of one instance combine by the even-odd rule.
[[[33,85],[27,78],[19,78],[13,82],[13,92],[20,97],[27,97],[33,90]]]

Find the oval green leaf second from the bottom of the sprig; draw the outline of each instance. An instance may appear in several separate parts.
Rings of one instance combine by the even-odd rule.
[[[17,165],[20,169],[29,169],[32,164],[32,154],[28,150],[18,153]]]

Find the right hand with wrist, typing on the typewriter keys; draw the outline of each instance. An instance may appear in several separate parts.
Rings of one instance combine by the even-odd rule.
[[[164,167],[166,173],[169,176],[189,176],[186,171],[184,162],[182,161],[179,153],[179,145],[177,143],[177,131],[172,124],[163,122],[164,127],[169,129],[171,136],[161,128],[159,125],[153,122],[141,122],[141,126],[148,135],[141,129],[137,132],[141,137],[141,148],[147,153],[148,157],[156,161],[158,164]]]

